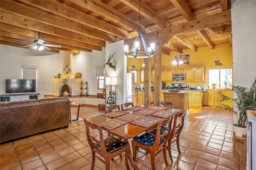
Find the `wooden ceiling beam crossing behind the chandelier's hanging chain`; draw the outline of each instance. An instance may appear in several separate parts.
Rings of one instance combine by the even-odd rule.
[[[136,12],[139,12],[139,1],[136,0],[120,0],[127,6],[130,6]],[[140,1],[140,14],[146,17],[148,20],[154,22],[160,28],[166,28],[166,20],[156,13],[150,6],[146,3]],[[168,27],[168,26],[167,26]]]

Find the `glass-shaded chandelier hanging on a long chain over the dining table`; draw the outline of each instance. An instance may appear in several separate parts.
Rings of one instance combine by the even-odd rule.
[[[140,14],[140,1],[139,1],[139,14]],[[139,23],[140,23],[140,15],[139,15]],[[140,42],[142,42],[145,51],[140,51]],[[148,57],[154,56],[155,47],[156,47],[155,43],[150,43],[150,47],[147,46],[142,36],[142,32],[139,30],[138,36],[136,37],[134,45],[132,46],[130,52],[129,52],[129,45],[124,45],[124,53],[126,54],[126,57],[148,58]]]

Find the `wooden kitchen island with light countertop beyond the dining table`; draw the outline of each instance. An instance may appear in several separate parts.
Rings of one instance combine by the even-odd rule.
[[[182,111],[187,110],[189,107],[189,94],[193,92],[188,91],[180,91],[180,92],[169,92],[169,91],[162,91],[164,100],[167,102],[173,103],[174,109],[180,109]]]

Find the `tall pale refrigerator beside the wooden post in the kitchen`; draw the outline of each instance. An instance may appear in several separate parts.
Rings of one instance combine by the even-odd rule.
[[[135,76],[134,73],[127,73],[126,103],[132,102],[136,105],[135,101]]]

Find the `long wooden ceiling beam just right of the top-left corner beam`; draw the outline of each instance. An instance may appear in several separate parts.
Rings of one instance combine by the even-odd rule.
[[[94,18],[84,12],[80,12],[74,8],[71,8],[67,5],[62,4],[61,2],[53,1],[53,0],[40,0],[40,1],[27,1],[24,0],[27,4],[36,6],[42,10],[46,10],[67,20],[72,20],[80,23],[80,27],[82,24],[85,26],[90,26],[91,28],[95,28],[102,32],[106,32],[108,34],[118,36],[121,38],[130,38],[128,32],[125,30],[115,27],[111,24],[108,24],[100,19]],[[47,5],[45,5],[47,4]],[[77,29],[77,28],[76,28]]]

